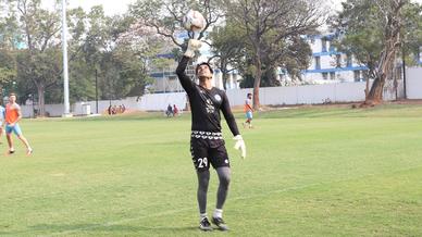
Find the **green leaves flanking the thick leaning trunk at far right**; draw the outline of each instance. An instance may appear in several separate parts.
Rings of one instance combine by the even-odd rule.
[[[414,53],[422,45],[422,7],[418,3],[402,1],[401,37]],[[384,3],[382,5],[381,3]],[[374,70],[386,43],[386,20],[383,11],[389,7],[388,2],[380,1],[380,5],[369,0],[348,0],[343,3],[344,11],[332,22],[332,27],[340,34],[336,47],[340,51],[352,53],[356,59]]]

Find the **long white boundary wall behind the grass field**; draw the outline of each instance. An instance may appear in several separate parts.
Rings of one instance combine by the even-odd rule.
[[[418,68],[422,70],[422,68]],[[422,98],[422,78],[421,71],[408,71],[408,98]],[[260,102],[263,105],[283,105],[283,104],[320,104],[326,101],[331,102],[359,102],[364,100],[365,83],[342,83],[325,85],[307,85],[293,87],[266,87],[260,88]],[[229,89],[226,91],[231,105],[243,105],[246,95],[252,89]],[[398,87],[398,97],[402,98],[402,85]],[[393,89],[384,91],[385,100],[395,100],[396,92]],[[102,100],[98,101],[98,112],[107,113],[110,104],[124,104],[128,110],[139,111],[164,111],[170,104],[176,104],[179,110],[186,108],[187,97],[185,92],[171,93],[150,93],[137,99],[137,97],[126,98],[124,100]],[[72,105],[71,111],[74,115],[84,115],[84,107],[90,105],[91,113],[96,113],[96,101],[77,102]],[[37,108],[35,108],[37,109]],[[33,116],[33,107],[23,105],[23,115]],[[46,104],[46,111],[50,116],[61,116],[64,108],[62,104]]]

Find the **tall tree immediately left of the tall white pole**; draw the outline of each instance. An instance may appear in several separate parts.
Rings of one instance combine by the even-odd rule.
[[[12,36],[11,39],[14,39],[14,36],[23,36],[22,40],[26,47],[26,50],[17,55],[17,78],[24,82],[32,80],[35,84],[39,112],[44,115],[46,88],[55,84],[59,77],[58,74],[49,74],[39,70],[50,70],[50,66],[57,68],[55,65],[60,62],[57,57],[59,51],[50,50],[60,45],[60,41],[57,40],[61,27],[60,16],[57,12],[41,9],[40,0],[10,0],[9,2],[12,10],[9,18],[16,20],[10,21],[9,28],[11,26],[16,28],[13,34],[9,35]]]

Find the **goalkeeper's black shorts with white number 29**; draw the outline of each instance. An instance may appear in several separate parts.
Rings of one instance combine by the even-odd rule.
[[[197,171],[231,166],[223,139],[190,138],[191,159]]]

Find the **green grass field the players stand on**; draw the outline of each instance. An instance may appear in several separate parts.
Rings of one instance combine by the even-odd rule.
[[[278,110],[255,125],[245,161],[224,126],[232,229],[200,233],[188,114],[25,120],[32,157],[21,144],[4,155],[1,138],[0,236],[422,236],[422,105]],[[209,213],[216,186],[212,172]]]

